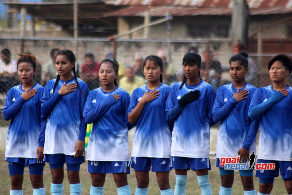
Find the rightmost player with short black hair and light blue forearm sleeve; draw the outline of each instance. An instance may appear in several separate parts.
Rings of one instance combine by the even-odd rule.
[[[271,193],[279,169],[287,193],[292,194],[292,89],[285,85],[292,70],[291,57],[276,55],[270,59],[268,69],[273,84],[257,89],[249,106],[249,117],[259,117],[260,123],[257,164],[275,163],[274,170],[256,170],[258,195]]]

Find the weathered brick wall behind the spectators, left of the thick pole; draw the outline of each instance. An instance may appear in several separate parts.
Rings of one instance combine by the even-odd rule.
[[[202,56],[203,51],[206,50],[207,41],[210,42],[210,48],[214,51],[214,59],[219,60],[223,66],[228,65],[228,59],[232,55],[231,41],[228,39],[218,40],[186,40],[186,41],[172,41],[169,46],[169,61],[176,67],[176,70],[181,69],[182,57],[187,53],[189,46],[197,46],[199,54]],[[12,60],[17,59],[17,53],[21,51],[20,39],[0,39],[0,50],[8,48],[12,53]],[[78,52],[75,52],[76,60],[79,65],[84,63],[83,56],[86,53],[95,55],[96,61],[102,61],[108,52],[113,51],[113,43],[105,39],[79,39]],[[154,40],[148,42],[147,40],[130,41],[118,40],[117,41],[117,60],[124,67],[134,64],[134,55],[136,51],[142,52],[144,57],[148,55],[157,55],[159,50],[167,50],[168,44],[166,41]],[[40,64],[44,65],[51,61],[49,52],[52,48],[70,49],[74,51],[74,41],[72,39],[60,40],[24,40],[24,51],[30,51],[36,55]],[[80,66],[79,66],[80,68]]]

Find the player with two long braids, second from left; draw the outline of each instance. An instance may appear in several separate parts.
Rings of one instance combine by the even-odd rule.
[[[44,160],[50,164],[52,195],[63,193],[65,162],[70,192],[77,195],[82,192],[79,169],[84,162],[86,135],[83,108],[89,89],[76,77],[72,51],[57,53],[56,69],[57,79],[47,82],[41,99],[41,112],[47,117]],[[72,76],[72,70],[75,76]]]

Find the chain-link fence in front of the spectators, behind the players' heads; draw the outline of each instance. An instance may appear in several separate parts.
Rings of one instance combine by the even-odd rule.
[[[57,77],[54,60],[57,51],[70,49],[75,53],[77,74],[89,88],[99,87],[99,62],[106,58],[114,58],[120,63],[120,85],[128,92],[146,83],[142,72],[142,64],[148,55],[158,55],[163,59],[165,72],[164,83],[172,86],[181,81],[182,58],[189,51],[198,52],[202,56],[201,76],[215,89],[223,84],[230,83],[228,61],[233,55],[230,40],[205,41],[165,41],[165,40],[116,40],[116,43],[106,39],[0,39],[2,68],[14,66],[14,70],[2,71],[0,80],[0,103],[5,103],[7,90],[19,84],[15,61],[18,53],[30,52],[38,59],[35,82],[45,85],[50,79]],[[116,51],[114,53],[113,51]],[[256,87],[270,84],[267,63],[274,55],[250,55],[247,81]],[[251,64],[253,65],[251,66]],[[10,71],[10,72],[9,72]],[[289,82],[289,80],[288,80]],[[6,125],[1,117],[0,126]]]

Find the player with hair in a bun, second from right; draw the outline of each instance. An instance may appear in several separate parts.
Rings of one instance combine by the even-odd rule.
[[[258,119],[248,116],[249,104],[256,88],[245,81],[248,73],[248,54],[240,53],[229,60],[229,73],[232,83],[217,90],[213,106],[214,122],[220,122],[217,147],[216,167],[219,167],[221,188],[219,195],[231,195],[234,171],[219,166],[222,157],[237,157],[242,163],[249,162],[249,156],[255,152],[255,136],[259,128]],[[253,169],[240,170],[244,195],[255,195]]]

